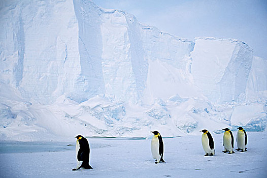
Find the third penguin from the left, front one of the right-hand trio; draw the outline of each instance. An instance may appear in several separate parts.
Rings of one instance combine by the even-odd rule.
[[[201,130],[199,132],[203,132],[201,140],[202,140],[203,149],[206,153],[206,155],[204,155],[204,156],[215,155],[214,142],[213,142],[213,138],[211,136],[211,133],[209,131],[207,131],[206,129]]]

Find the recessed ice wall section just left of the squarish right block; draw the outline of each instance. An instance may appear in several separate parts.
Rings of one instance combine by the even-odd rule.
[[[174,95],[197,95],[191,83],[191,57],[194,42],[142,25],[142,36],[149,67],[144,103],[155,98],[167,100]],[[185,92],[186,91],[186,92]]]

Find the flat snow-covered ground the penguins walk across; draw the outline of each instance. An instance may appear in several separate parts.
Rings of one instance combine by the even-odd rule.
[[[66,142],[2,142],[1,177],[266,177],[267,132],[248,132],[248,151],[223,154],[223,134],[212,133],[216,154],[204,157],[199,135],[163,138],[164,160],[154,164],[151,139],[88,138],[93,170],[76,167],[75,138]],[[233,132],[236,138],[236,132]],[[71,144],[71,145],[69,145]],[[236,148],[236,142],[235,142]]]

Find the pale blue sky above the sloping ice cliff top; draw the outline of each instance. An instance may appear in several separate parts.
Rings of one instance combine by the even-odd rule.
[[[193,40],[221,37],[247,43],[267,60],[267,0],[93,0],[99,7],[120,9],[139,22]]]

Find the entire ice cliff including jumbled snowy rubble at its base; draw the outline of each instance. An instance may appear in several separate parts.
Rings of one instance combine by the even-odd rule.
[[[266,127],[267,63],[241,41],[81,0],[2,1],[0,24],[1,139]]]

